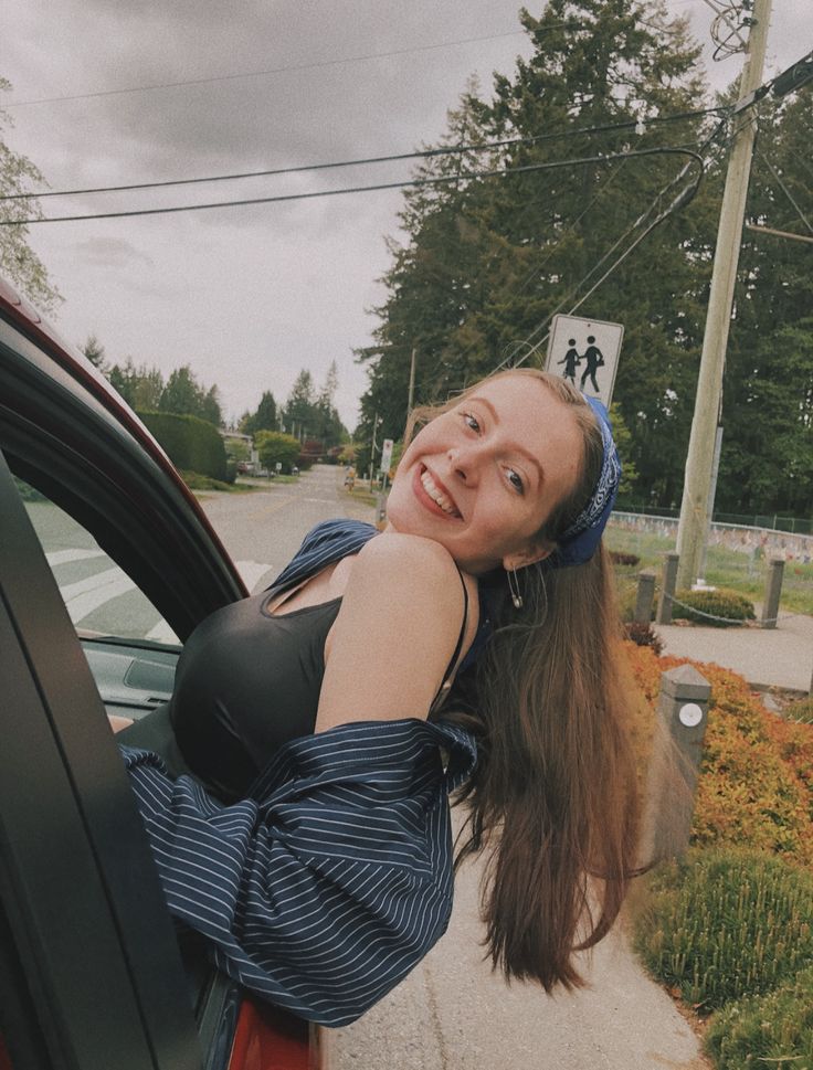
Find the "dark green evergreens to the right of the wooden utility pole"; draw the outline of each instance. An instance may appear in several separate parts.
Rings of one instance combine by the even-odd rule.
[[[766,102],[747,222],[810,235],[810,91]],[[806,225],[805,225],[806,223]],[[716,508],[813,517],[810,246],[743,231],[722,395]]]

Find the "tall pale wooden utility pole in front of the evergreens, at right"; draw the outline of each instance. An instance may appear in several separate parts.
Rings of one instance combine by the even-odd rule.
[[[754,118],[749,108],[762,82],[770,17],[771,0],[754,0],[746,64],[740,75],[739,102],[732,115],[736,130],[717,230],[695,415],[686,458],[680,523],[677,531],[677,552],[680,557],[678,587],[688,587],[697,579],[708,530],[715,438],[722,396],[722,370],[756,134]]]

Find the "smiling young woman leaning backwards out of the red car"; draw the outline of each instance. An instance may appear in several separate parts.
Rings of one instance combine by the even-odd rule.
[[[327,1025],[445,930],[450,792],[469,807],[461,856],[490,848],[487,941],[508,977],[578,984],[573,953],[635,865],[605,413],[514,370],[416,422],[384,532],[319,526],[270,592],[190,638],[171,722],[192,776],[125,751],[171,912],[242,983]]]

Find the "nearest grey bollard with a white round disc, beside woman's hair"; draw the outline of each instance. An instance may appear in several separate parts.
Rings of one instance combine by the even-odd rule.
[[[644,861],[680,857],[689,845],[710,693],[708,680],[690,665],[661,676]]]

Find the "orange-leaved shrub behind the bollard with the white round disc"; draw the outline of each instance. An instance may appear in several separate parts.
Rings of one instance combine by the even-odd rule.
[[[625,646],[633,676],[654,710],[661,674],[688,659],[658,658],[648,647]],[[689,664],[711,685],[694,843],[747,844],[813,865],[813,725],[769,713],[736,672]]]

